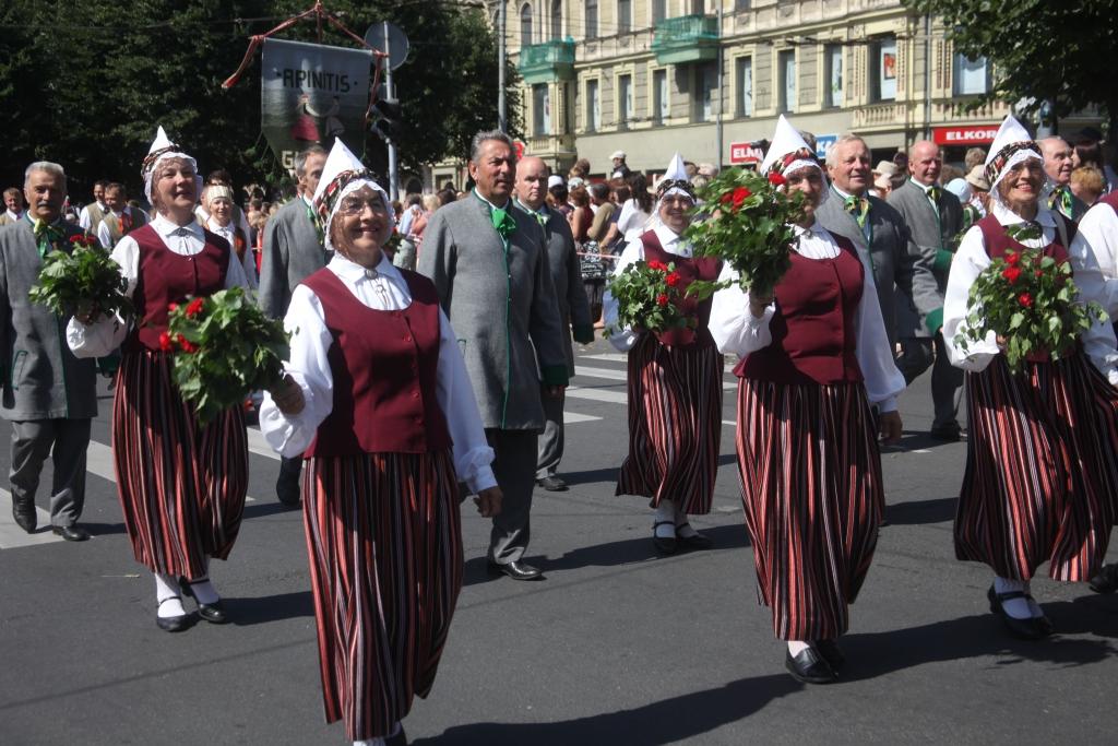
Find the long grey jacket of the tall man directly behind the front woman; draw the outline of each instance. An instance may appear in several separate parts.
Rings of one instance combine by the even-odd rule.
[[[454,325],[483,425],[540,431],[541,378],[568,380],[562,324],[543,230],[511,205],[509,215],[517,229],[506,251],[476,195],[440,207],[424,232],[417,270],[435,283]]]

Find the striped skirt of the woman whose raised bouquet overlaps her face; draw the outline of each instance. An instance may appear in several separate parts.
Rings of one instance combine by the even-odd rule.
[[[738,387],[738,470],[757,585],[781,640],[832,640],[850,613],[884,510],[865,388]]]

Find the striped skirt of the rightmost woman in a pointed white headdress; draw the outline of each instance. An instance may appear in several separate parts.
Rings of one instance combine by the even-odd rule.
[[[1002,356],[967,375],[970,435],[955,555],[997,575],[1087,580],[1102,564],[1118,494],[1118,391],[1082,353]]]

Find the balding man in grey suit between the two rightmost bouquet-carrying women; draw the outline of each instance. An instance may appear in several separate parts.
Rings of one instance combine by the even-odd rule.
[[[931,437],[958,441],[959,394],[963,371],[947,358],[940,328],[944,325],[944,291],[954,258],[955,237],[963,229],[963,206],[958,198],[938,183],[942,168],[939,145],[927,140],[909,149],[909,180],[889,195],[889,204],[904,218],[909,228],[909,253],[915,257],[912,300],[920,312],[923,329],[915,338],[900,340],[901,347],[922,347],[936,361],[931,368],[931,400],[935,419]],[[903,371],[903,368],[902,368]]]

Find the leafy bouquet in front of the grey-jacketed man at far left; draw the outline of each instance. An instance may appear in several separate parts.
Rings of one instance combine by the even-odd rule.
[[[60,317],[131,317],[132,301],[125,294],[129,283],[120,265],[92,236],[72,236],[69,240],[69,253],[54,251],[42,258],[38,281],[28,293],[30,301]]]

